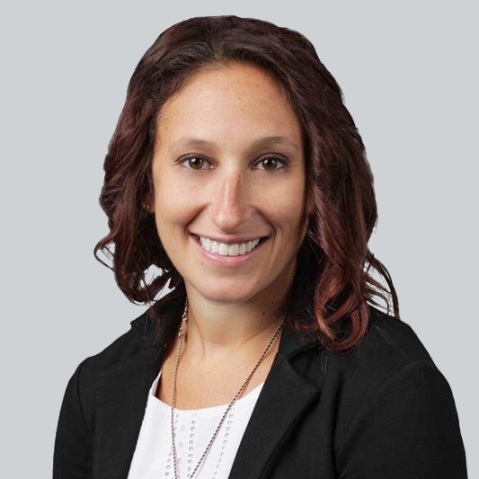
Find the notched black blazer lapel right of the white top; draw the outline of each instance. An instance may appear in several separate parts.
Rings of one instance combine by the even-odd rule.
[[[283,330],[279,351],[244,431],[228,479],[265,477],[279,446],[294,429],[294,423],[321,394],[320,388],[298,374],[289,360],[300,350],[313,346],[317,347],[318,343],[305,345],[297,333],[288,328]]]

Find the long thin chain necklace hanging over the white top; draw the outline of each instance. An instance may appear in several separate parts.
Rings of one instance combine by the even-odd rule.
[[[173,444],[173,464],[174,464],[174,477],[175,479],[178,479],[179,478],[179,473],[178,473],[178,466],[177,466],[177,460],[176,460],[176,444],[175,444],[175,434],[174,434],[174,429],[173,429],[173,410],[174,410],[174,407],[176,406],[176,377],[178,375],[178,366],[180,364],[180,352],[182,350],[182,343],[183,343],[183,340],[184,340],[184,337],[186,335],[186,325],[187,325],[187,321],[188,321],[188,300],[186,301],[186,305],[185,305],[185,308],[184,308],[184,312],[183,312],[183,315],[182,315],[182,324],[180,326],[180,331],[178,333],[178,337],[180,338],[180,344],[178,345],[178,352],[176,354],[176,362],[174,364],[174,375],[173,375],[173,400],[172,400],[172,407],[171,407],[171,426],[172,426],[172,444]],[[255,364],[252,372],[250,373],[250,375],[246,378],[246,380],[244,381],[244,384],[243,386],[240,387],[239,391],[236,393],[235,397],[233,398],[233,400],[231,401],[230,404],[228,404],[227,408],[226,408],[226,411],[225,413],[223,414],[222,418],[220,419],[218,425],[217,425],[217,429],[215,430],[215,432],[213,433],[213,436],[211,437],[211,439],[209,439],[209,442],[208,442],[208,446],[207,448],[205,449],[205,451],[203,452],[202,456],[200,457],[200,461],[198,462],[198,464],[196,465],[196,467],[193,469],[193,472],[191,473],[191,475],[189,476],[189,479],[191,479],[193,477],[193,475],[196,473],[196,471],[198,470],[198,467],[200,467],[200,464],[201,462],[203,461],[203,459],[206,457],[206,455],[208,454],[208,451],[209,449],[211,448],[211,445],[213,444],[213,441],[216,439],[217,437],[217,433],[218,431],[221,429],[221,425],[223,424],[223,422],[225,421],[225,418],[226,418],[226,414],[228,413],[228,411],[230,410],[231,406],[235,403],[235,401],[237,400],[237,398],[242,395],[243,391],[244,391],[244,388],[248,385],[248,383],[250,382],[251,378],[253,377],[253,374],[254,372],[256,371],[256,369],[258,368],[258,366],[260,366],[261,362],[262,362],[262,359],[264,359],[264,357],[266,356],[268,350],[270,350],[271,348],[271,344],[274,342],[274,340],[276,339],[276,337],[278,336],[279,334],[279,331],[280,329],[282,328],[283,324],[285,322],[285,319],[283,318],[283,320],[281,321],[281,323],[279,324],[278,328],[276,329],[273,337],[271,338],[270,342],[268,343],[268,345],[266,346],[266,349],[262,351],[262,355],[260,357],[260,359],[258,360],[258,362]]]

